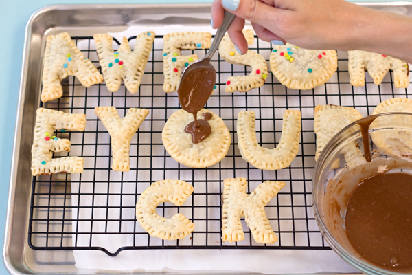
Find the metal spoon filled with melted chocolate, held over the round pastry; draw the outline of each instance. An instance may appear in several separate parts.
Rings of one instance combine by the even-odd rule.
[[[200,61],[196,61],[187,66],[185,72],[182,74],[178,96],[182,108],[188,113],[196,114],[198,111],[201,111],[214,90],[216,69],[211,65],[210,59],[216,50],[218,50],[220,41],[222,41],[223,36],[225,36],[234,18],[235,14],[225,11],[223,23],[216,32],[209,52],[207,52],[206,56]]]

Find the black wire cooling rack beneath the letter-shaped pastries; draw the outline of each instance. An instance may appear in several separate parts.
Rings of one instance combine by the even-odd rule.
[[[128,40],[133,48],[135,37]],[[96,67],[100,67],[93,36],[72,37]],[[115,39],[113,47],[117,49]],[[250,50],[266,61],[272,51],[270,43],[255,37]],[[214,94],[206,108],[218,114],[231,132],[232,142],[225,159],[209,168],[187,168],[166,153],[161,131],[168,117],[179,109],[176,92],[166,94],[163,86],[163,36],[157,35],[136,94],[124,85],[111,93],[104,83],[85,88],[73,76],[62,82],[62,98],[41,104],[68,113],[86,113],[84,132],[60,132],[55,135],[71,140],[71,152],[84,158],[84,172],[69,175],[33,177],[30,202],[29,245],[34,250],[102,250],[116,256],[122,250],[141,249],[288,249],[328,250],[312,212],[312,173],[315,135],[313,113],[317,104],[354,107],[364,116],[377,104],[392,97],[408,97],[408,89],[393,86],[393,74],[375,85],[369,76],[365,87],[352,87],[347,72],[347,53],[339,52],[339,67],[325,85],[308,91],[292,90],[281,85],[269,73],[264,86],[247,93],[226,93],[228,76],[249,74],[250,68],[226,63],[218,53],[211,62],[217,72]],[[206,50],[183,50],[182,54],[205,55]],[[130,171],[111,170],[110,135],[94,114],[94,107],[115,106],[119,115],[130,107],[146,108],[150,114],[130,143]],[[258,142],[266,148],[277,145],[282,133],[282,114],[286,109],[302,113],[299,153],[288,168],[258,170],[245,162],[238,150],[236,118],[239,111],[256,112]],[[221,241],[222,181],[245,177],[247,192],[266,180],[285,181],[286,187],[268,203],[265,211],[279,241],[274,245],[255,243],[242,219],[244,241]],[[152,238],[135,219],[135,204],[145,188],[161,179],[181,179],[194,186],[193,194],[183,206],[162,203],[157,213],[170,218],[180,212],[196,228],[190,236],[176,241]],[[117,238],[113,247],[113,239]]]

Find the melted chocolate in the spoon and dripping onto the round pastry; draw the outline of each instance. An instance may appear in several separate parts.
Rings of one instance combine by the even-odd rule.
[[[198,111],[201,111],[205,106],[216,82],[216,70],[208,64],[209,61],[199,61],[187,67],[182,76],[185,80],[181,81],[177,91],[179,103],[183,110],[192,113],[194,117],[194,121],[190,122],[185,128],[187,133],[192,133],[193,143],[205,140],[211,133],[210,125],[206,122],[205,113],[203,113],[205,120],[197,119]],[[209,115],[210,118],[211,114]]]

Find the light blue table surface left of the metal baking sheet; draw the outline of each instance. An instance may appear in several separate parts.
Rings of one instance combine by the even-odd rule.
[[[63,3],[211,3],[212,0],[3,0],[0,5],[0,245],[3,249],[16,107],[19,94],[25,25],[45,5]],[[8,274],[3,262],[0,274]]]

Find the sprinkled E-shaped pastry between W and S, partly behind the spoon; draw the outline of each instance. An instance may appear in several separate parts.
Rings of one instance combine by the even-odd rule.
[[[163,36],[163,91],[177,91],[182,68],[198,60],[196,54],[182,56],[181,50],[209,49],[209,32],[172,32]]]

